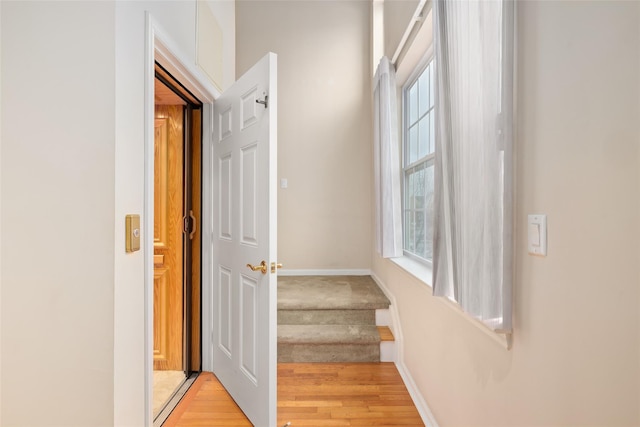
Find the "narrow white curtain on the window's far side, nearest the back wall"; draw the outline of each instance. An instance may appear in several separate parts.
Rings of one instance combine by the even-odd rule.
[[[376,249],[384,258],[392,258],[402,255],[402,205],[396,73],[386,56],[374,78],[373,109]]]

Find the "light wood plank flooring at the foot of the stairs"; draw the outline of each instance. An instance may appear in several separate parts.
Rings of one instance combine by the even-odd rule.
[[[287,422],[291,427],[424,426],[393,363],[278,364],[277,427]],[[251,423],[206,372],[163,425],[194,426]]]

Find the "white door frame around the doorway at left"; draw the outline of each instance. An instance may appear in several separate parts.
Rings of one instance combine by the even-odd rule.
[[[154,81],[155,61],[158,61],[180,83],[203,103],[202,111],[202,283],[211,283],[211,129],[213,102],[220,92],[205,74],[172,40],[169,33],[146,13],[145,82],[144,82],[144,210],[142,214],[142,250],[144,259],[144,354],[145,354],[145,425],[153,425],[153,181],[154,181]],[[206,159],[206,161],[205,161]],[[202,287],[202,369],[211,370],[212,305],[211,292]]]

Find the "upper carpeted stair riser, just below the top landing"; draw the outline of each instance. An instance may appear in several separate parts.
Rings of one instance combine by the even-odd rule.
[[[375,325],[375,310],[278,310],[279,325]]]

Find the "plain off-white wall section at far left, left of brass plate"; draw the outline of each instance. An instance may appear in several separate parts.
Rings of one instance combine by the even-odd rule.
[[[112,425],[114,5],[0,7],[0,424]]]

